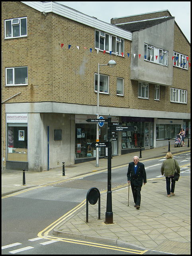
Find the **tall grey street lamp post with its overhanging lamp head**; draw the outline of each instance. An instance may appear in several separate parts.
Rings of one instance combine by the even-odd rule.
[[[110,60],[108,64],[100,65],[98,63],[98,75],[97,75],[97,119],[99,119],[99,92],[100,92],[100,77],[99,77],[99,69],[100,66],[109,66],[113,68],[116,65],[114,60]],[[99,124],[97,122],[97,130],[96,130],[96,142],[99,142]],[[99,148],[96,148],[96,167],[99,167]]]

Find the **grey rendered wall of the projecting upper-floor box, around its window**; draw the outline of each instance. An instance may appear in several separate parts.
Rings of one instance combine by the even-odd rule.
[[[133,32],[131,53],[141,54],[141,58],[137,58],[137,55],[135,58],[131,58],[131,79],[172,86],[173,41],[174,18],[150,28]],[[168,67],[144,60],[145,43],[168,51]]]

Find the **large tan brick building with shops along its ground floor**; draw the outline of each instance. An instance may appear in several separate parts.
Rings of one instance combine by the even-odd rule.
[[[166,66],[143,58],[146,33],[162,24],[172,32],[161,45],[171,56],[189,57],[187,68],[170,59]],[[173,144],[181,126],[190,128],[190,44],[171,15],[143,32],[56,2],[2,2],[2,168],[40,172],[95,158],[90,144],[96,125],[86,119],[97,117],[98,64],[106,65],[99,72],[99,114],[135,126],[133,132],[118,132],[113,155],[168,145],[168,139]],[[175,38],[185,40],[183,48]],[[115,68],[107,66],[110,60]],[[145,64],[158,67],[146,72]],[[184,90],[184,96],[187,91],[184,105],[170,102],[170,88]],[[99,134],[100,141],[107,140],[106,124]],[[106,155],[104,148],[99,154]]]

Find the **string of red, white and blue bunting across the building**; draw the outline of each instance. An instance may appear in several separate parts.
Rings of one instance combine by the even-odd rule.
[[[66,47],[63,47],[64,45],[65,45]],[[68,50],[69,50],[69,49],[71,49],[72,45],[71,45],[71,44],[63,44],[63,43],[61,43],[61,48],[62,48],[62,49],[65,49],[65,50],[66,50],[67,47],[68,47]],[[77,48],[78,50],[79,50],[79,48],[84,48],[85,50],[89,50],[90,53],[92,52],[92,48],[87,49],[87,47],[84,47],[84,46],[76,46],[76,48]],[[100,50],[99,50],[99,49],[96,49],[96,50],[97,50],[97,54],[98,54]],[[103,51],[103,54],[105,54],[105,53],[106,53],[106,50]],[[112,51],[110,51],[109,53],[110,53],[110,56],[111,56]],[[115,52],[115,55],[117,56],[118,53],[119,53],[119,52]],[[123,56],[125,57],[124,54],[125,54],[124,52],[121,52],[121,54],[119,54],[119,55],[121,55],[122,57],[123,57]],[[128,58],[130,57],[130,55],[131,55],[131,54],[130,54],[129,52],[127,52],[127,57],[128,57]],[[139,56],[139,59],[141,59],[142,54],[133,53],[133,58],[135,58],[136,56]],[[175,56],[164,56],[164,57],[165,57],[165,60],[167,60],[169,57],[171,57],[172,60],[175,58]],[[152,60],[152,58],[153,58],[153,55],[150,55],[150,60]],[[163,60],[163,56],[155,55],[154,58],[156,58],[156,60],[157,60],[158,58],[161,58],[161,60]],[[147,55],[144,55],[144,59],[147,60]],[[189,57],[186,57],[187,62],[188,62],[188,59],[189,59]],[[176,62],[177,62],[177,60],[178,60],[178,56],[176,56]],[[174,62],[174,66],[176,66],[176,62]],[[179,64],[180,67],[182,67],[182,66],[185,66],[185,65],[186,65],[186,62],[183,62],[183,63],[178,62],[178,64]],[[190,67],[190,66],[191,66],[191,63],[188,62],[188,64],[189,64],[189,67]]]

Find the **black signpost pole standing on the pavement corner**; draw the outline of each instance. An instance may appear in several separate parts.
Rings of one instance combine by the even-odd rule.
[[[113,223],[112,212],[112,191],[111,191],[111,155],[112,155],[112,143],[111,143],[111,116],[108,116],[108,179],[107,179],[107,207],[105,213],[105,223]]]

